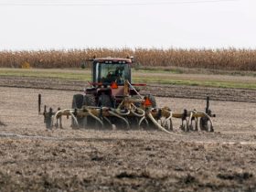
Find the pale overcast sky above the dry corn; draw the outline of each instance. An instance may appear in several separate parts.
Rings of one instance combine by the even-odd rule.
[[[0,0],[0,50],[256,48],[255,0]]]

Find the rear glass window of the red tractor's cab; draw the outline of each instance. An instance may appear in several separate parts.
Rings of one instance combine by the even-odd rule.
[[[124,80],[130,80],[128,64],[107,64],[101,63],[97,65],[99,68],[98,82],[112,83],[116,81],[118,84],[123,84]]]

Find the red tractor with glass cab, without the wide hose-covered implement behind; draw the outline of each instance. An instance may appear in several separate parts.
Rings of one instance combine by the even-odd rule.
[[[134,99],[144,99],[135,86],[145,84],[132,83],[133,59],[101,58],[92,59],[92,82],[91,88],[85,89],[85,94],[75,94],[72,101],[72,109],[81,109],[83,106],[108,107],[116,109],[127,95]],[[129,82],[129,88],[125,89],[125,82]],[[128,90],[128,92],[125,92]],[[155,97],[148,95],[148,104],[156,108]],[[141,103],[137,103],[139,106]],[[112,117],[111,122],[116,119]],[[93,125],[95,121],[91,117],[78,117],[80,127]],[[72,126],[75,126],[72,122]]]

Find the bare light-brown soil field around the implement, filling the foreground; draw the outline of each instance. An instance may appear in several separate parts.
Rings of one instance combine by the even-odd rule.
[[[47,131],[37,94],[55,109],[77,91],[0,87],[0,191],[255,191],[256,103],[212,101],[215,133]],[[252,94],[255,94],[253,92]],[[251,97],[251,95],[249,95]],[[157,98],[175,112],[205,101]]]

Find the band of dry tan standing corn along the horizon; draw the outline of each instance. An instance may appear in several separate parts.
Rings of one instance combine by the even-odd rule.
[[[252,49],[157,49],[157,48],[87,48],[69,50],[0,51],[0,67],[80,68],[93,57],[133,56],[146,67],[182,67],[200,69],[256,71],[256,50]]]

